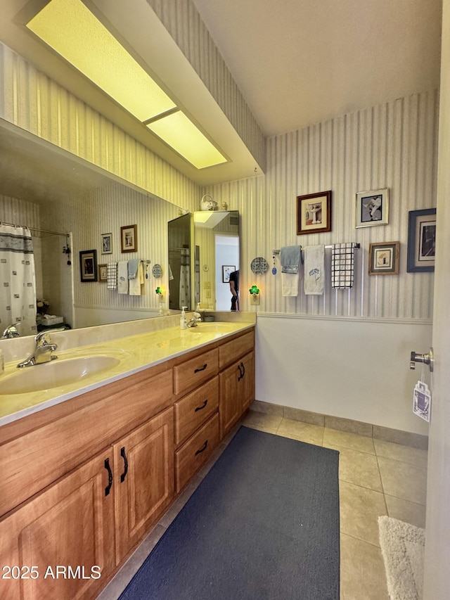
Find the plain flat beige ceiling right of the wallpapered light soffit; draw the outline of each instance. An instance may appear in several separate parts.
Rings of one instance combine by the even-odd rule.
[[[438,87],[442,0],[193,0],[264,134]]]

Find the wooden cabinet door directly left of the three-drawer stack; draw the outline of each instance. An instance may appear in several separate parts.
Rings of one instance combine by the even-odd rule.
[[[116,561],[136,546],[174,496],[174,411],[169,408],[114,445]]]

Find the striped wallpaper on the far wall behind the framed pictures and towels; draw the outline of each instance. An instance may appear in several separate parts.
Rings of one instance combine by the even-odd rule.
[[[311,125],[267,141],[266,175],[209,186],[219,205],[241,215],[241,290],[252,283],[261,288],[260,307],[250,307],[243,292],[241,307],[260,313],[359,319],[432,318],[433,274],[406,273],[408,212],[436,205],[438,92],[398,98]],[[385,226],[355,229],[355,194],[390,189],[390,217]],[[329,233],[297,236],[296,198],[333,191],[333,229]],[[271,265],[272,250],[285,245],[332,244],[354,241],[355,285],[349,291],[330,288],[321,296],[283,298],[280,263],[255,276],[254,257]],[[371,242],[400,241],[398,276],[368,276]],[[330,250],[326,251],[330,270]]]

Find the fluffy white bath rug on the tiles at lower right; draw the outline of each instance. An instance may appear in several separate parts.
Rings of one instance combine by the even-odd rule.
[[[425,530],[397,519],[378,517],[380,547],[391,600],[421,600]]]

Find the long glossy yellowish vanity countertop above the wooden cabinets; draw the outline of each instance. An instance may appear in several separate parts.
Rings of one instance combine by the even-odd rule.
[[[228,322],[226,323],[226,331],[215,331],[214,327],[202,328],[202,325],[185,330],[181,330],[179,326],[169,327],[101,343],[83,345],[71,350],[57,350],[58,362],[75,357],[96,357],[98,355],[119,358],[119,363],[106,371],[84,376],[77,382],[60,385],[58,388],[19,394],[2,394],[2,382],[6,382],[8,377],[17,376],[18,374],[17,362],[9,362],[5,365],[4,374],[0,376],[0,426],[22,419],[24,416],[49,408],[65,400],[70,400],[70,398],[95,390],[113,381],[118,381],[143,371],[143,369],[179,357],[192,350],[197,350],[210,343],[233,336],[235,333],[254,327],[255,322]],[[26,378],[32,374],[33,369],[43,367],[45,368],[45,364],[25,367],[20,369],[20,373]]]

